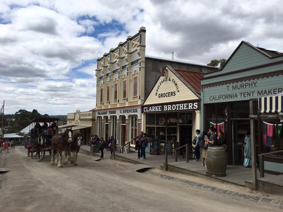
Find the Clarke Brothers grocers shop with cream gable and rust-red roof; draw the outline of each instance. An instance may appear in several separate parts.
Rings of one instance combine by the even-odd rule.
[[[166,66],[164,76],[160,76],[142,105],[143,130],[149,140],[160,140],[161,153],[166,142],[174,144],[173,148],[192,143],[195,130],[200,127],[198,88],[202,76],[202,72]]]

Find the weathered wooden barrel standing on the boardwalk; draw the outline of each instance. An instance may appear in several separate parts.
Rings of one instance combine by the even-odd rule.
[[[208,147],[206,154],[207,175],[225,177],[227,168],[226,151],[223,147]]]

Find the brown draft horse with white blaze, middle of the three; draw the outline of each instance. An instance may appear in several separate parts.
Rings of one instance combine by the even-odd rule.
[[[65,132],[63,133],[62,136],[60,135],[54,135],[51,138],[51,164],[56,164],[57,162],[57,167],[62,168],[62,152],[67,153],[67,162],[70,157],[70,143],[72,142],[72,127],[70,129],[66,129]],[[57,161],[55,161],[55,155],[57,158]],[[59,156],[59,159],[58,159]],[[64,161],[64,165],[66,165],[66,161]]]

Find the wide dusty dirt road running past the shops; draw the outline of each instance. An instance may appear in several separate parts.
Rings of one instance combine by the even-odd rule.
[[[23,147],[10,150],[4,158],[10,169],[0,174],[0,207],[5,212],[250,212],[268,211],[270,207],[273,212],[282,211],[268,203],[203,191],[82,155],[78,156],[78,166],[68,163],[63,168],[51,165],[49,155],[42,162],[28,158]]]

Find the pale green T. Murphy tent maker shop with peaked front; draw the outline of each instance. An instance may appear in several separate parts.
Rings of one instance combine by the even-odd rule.
[[[228,164],[243,163],[244,139],[250,129],[250,99],[282,92],[283,54],[241,42],[222,69],[201,79],[201,128],[225,133]],[[258,105],[254,104],[257,115]],[[261,126],[263,123],[255,125]],[[256,128],[256,154],[265,151],[261,127]],[[273,151],[282,146],[272,146]]]

